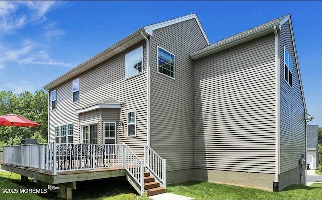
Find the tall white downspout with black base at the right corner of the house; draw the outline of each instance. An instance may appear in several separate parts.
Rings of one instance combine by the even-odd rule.
[[[273,27],[275,34],[275,179],[273,181],[273,191],[278,192],[278,34],[276,25]]]

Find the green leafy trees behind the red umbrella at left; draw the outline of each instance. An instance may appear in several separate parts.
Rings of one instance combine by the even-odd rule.
[[[47,142],[48,135],[48,94],[38,90],[34,94],[22,92],[19,95],[0,91],[0,115],[17,114],[41,124],[40,127],[13,127],[13,143],[17,145],[21,139],[34,138],[39,143]],[[0,145],[11,143],[11,127],[0,126]]]

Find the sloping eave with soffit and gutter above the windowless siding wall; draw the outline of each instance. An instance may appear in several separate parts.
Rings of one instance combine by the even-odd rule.
[[[247,32],[245,34],[241,34],[237,37],[233,37],[231,39],[224,40],[223,42],[219,42],[217,44],[215,43],[214,45],[210,45],[204,49],[201,49],[197,52],[190,54],[190,58],[193,60],[196,60],[196,59],[208,56],[210,54],[228,49],[230,47],[248,42],[250,40],[254,40],[254,39],[259,38],[261,36],[273,33],[274,32],[273,27],[277,26],[279,24],[280,24],[280,21],[277,21],[277,22],[269,24],[267,26],[263,26],[259,29],[255,29],[255,30]]]

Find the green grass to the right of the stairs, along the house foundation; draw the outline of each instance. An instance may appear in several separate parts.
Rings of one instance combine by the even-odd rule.
[[[198,180],[167,186],[167,192],[198,199],[321,199],[322,184],[291,185],[278,193]]]

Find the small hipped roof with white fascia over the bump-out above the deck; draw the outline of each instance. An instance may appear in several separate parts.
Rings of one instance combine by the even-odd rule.
[[[98,108],[121,108],[121,103],[113,97],[108,97],[106,99],[87,104],[83,108],[76,109],[76,113],[84,113]]]

